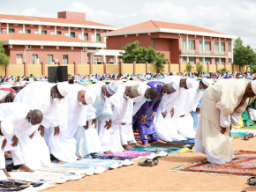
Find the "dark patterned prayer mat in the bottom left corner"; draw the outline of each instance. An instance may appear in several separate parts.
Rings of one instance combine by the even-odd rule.
[[[20,191],[30,186],[34,188],[41,186],[43,183],[40,182],[29,182],[21,180],[3,180],[0,181],[0,191]]]

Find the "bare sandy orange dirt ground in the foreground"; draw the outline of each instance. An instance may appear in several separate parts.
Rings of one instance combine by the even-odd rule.
[[[256,138],[249,141],[235,138],[233,151],[256,151]],[[213,174],[177,173],[167,170],[206,159],[200,153],[174,153],[159,159],[158,166],[133,166],[109,170],[103,174],[86,176],[79,181],[56,184],[45,191],[256,191],[249,186],[249,177],[223,176]]]

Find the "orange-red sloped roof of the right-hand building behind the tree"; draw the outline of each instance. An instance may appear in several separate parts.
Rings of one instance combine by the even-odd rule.
[[[143,30],[143,29],[154,29],[154,28],[155,29],[156,28],[177,29],[177,30],[194,31],[194,32],[202,32],[202,33],[220,33],[220,32],[216,32],[210,29],[199,27],[199,26],[191,26],[191,25],[154,21],[154,20],[140,23],[134,26],[127,26],[127,27],[112,31],[110,33],[135,31],[135,30]],[[224,34],[224,33],[221,33],[221,34]]]

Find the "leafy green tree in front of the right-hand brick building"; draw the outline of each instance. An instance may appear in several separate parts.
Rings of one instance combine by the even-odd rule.
[[[167,62],[167,59],[164,58],[164,54],[157,52],[154,48],[143,48],[139,47],[139,41],[134,41],[128,43],[123,47],[124,52],[120,52],[120,58],[124,63],[154,63],[156,65],[157,72],[162,72],[164,69],[163,64]]]

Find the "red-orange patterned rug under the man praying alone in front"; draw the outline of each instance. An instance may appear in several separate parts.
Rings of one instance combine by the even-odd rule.
[[[237,151],[235,155],[237,159],[226,164],[211,164],[203,160],[188,166],[177,166],[169,171],[256,176],[256,151]]]

